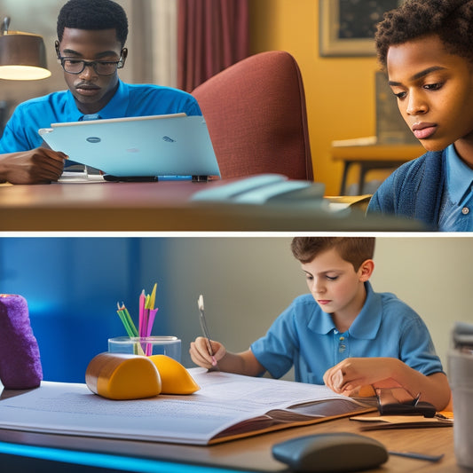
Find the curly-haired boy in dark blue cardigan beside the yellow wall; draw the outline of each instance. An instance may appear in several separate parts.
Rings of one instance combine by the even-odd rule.
[[[427,153],[382,183],[368,214],[473,231],[473,1],[406,0],[375,39],[399,111]]]

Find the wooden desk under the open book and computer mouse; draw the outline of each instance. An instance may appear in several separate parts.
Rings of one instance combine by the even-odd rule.
[[[400,430],[374,430],[364,432],[360,430],[361,422],[350,421],[348,418],[338,419],[330,422],[322,422],[308,427],[298,427],[288,430],[280,430],[252,438],[234,440],[225,444],[212,446],[191,446],[174,444],[157,444],[151,442],[137,442],[126,440],[109,440],[97,438],[79,438],[74,436],[57,436],[47,434],[32,434],[20,431],[0,430],[0,442],[40,445],[64,448],[67,450],[83,452],[113,453],[114,455],[124,455],[136,458],[147,458],[159,461],[177,462],[182,466],[178,471],[185,472],[185,464],[188,464],[189,471],[195,471],[193,466],[202,465],[219,469],[233,469],[237,471],[266,471],[282,472],[288,471],[285,465],[272,458],[272,445],[304,435],[321,432],[355,432],[367,437],[376,438],[388,450],[410,451],[416,453],[438,454],[444,453],[441,461],[430,462],[413,460],[390,455],[389,460],[382,465],[382,468],[371,469],[372,472],[448,472],[455,473],[468,471],[461,469],[456,464],[453,452],[453,428],[431,428],[431,429],[400,429]],[[0,444],[1,452],[1,444]],[[48,458],[46,456],[46,458]],[[25,458],[12,458],[7,464],[1,462],[0,466],[14,467],[34,466],[34,460],[28,461]],[[173,463],[174,464],[174,463]],[[82,467],[81,471],[88,471]],[[2,468],[2,470],[4,470]],[[17,468],[17,470],[25,470]],[[33,470],[33,469],[31,469]],[[67,469],[54,469],[54,463],[49,465],[47,471],[66,471]],[[46,469],[44,469],[46,471]],[[165,467],[155,471],[169,472]],[[173,470],[177,471],[177,470]],[[201,469],[197,470],[200,471]],[[209,469],[211,472],[212,470]]]

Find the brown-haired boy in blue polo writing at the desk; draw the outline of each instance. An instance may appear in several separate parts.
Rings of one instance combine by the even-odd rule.
[[[311,294],[297,297],[247,351],[212,341],[218,368],[280,378],[294,365],[297,382],[325,382],[345,395],[400,386],[443,409],[450,388],[427,327],[396,296],[371,288],[374,238],[296,237],[291,248]],[[212,366],[204,338],[190,354]]]

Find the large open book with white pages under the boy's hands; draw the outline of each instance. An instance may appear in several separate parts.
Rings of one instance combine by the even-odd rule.
[[[116,401],[85,384],[42,382],[0,400],[0,429],[210,445],[233,438],[375,410],[325,386],[189,370],[189,396]]]

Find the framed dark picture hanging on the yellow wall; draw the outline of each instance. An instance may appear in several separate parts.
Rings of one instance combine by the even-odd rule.
[[[374,56],[376,24],[403,0],[319,0],[320,56]]]

